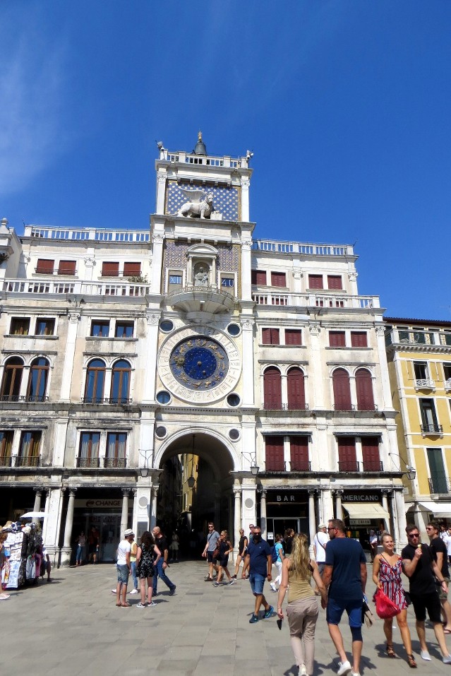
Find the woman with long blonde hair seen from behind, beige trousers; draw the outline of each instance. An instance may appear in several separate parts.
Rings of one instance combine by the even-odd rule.
[[[326,602],[326,588],[318,566],[308,553],[307,536],[296,533],[291,554],[282,562],[282,582],[277,597],[277,615],[284,619],[282,603],[288,588],[287,619],[291,648],[300,676],[312,676],[315,657],[315,627],[318,619],[318,600],[311,586],[311,578]]]

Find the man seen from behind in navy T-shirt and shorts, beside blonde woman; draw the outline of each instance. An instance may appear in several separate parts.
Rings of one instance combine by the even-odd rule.
[[[344,523],[339,518],[330,519],[327,525],[329,542],[326,547],[326,560],[323,583],[327,589],[327,600],[321,600],[326,610],[326,621],[341,662],[338,676],[352,672],[352,676],[360,675],[360,658],[363,646],[362,638],[362,605],[366,587],[366,557],[360,542],[346,537]],[[344,652],[343,636],[339,630],[339,622],[344,610],[349,618],[352,636],[353,664]]]

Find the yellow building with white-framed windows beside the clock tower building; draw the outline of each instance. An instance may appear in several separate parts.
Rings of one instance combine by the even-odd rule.
[[[451,524],[451,321],[386,317],[385,343],[407,522]],[[408,468],[416,470],[409,479]],[[412,473],[409,474],[411,476]]]

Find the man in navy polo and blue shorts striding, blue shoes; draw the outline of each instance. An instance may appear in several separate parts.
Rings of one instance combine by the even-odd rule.
[[[266,540],[262,540],[262,531],[260,526],[254,526],[252,539],[248,543],[246,552],[246,564],[249,566],[249,582],[251,583],[252,593],[255,596],[255,609],[249,622],[254,624],[258,622],[258,612],[261,605],[265,608],[263,617],[271,617],[274,608],[267,603],[263,596],[263,585],[265,579],[268,582],[272,580],[272,556],[271,547]]]

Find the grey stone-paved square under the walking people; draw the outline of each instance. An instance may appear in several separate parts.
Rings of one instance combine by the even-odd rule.
[[[11,591],[1,607],[1,674],[7,676],[294,676],[294,658],[287,622],[277,629],[276,617],[249,624],[253,596],[246,581],[213,587],[204,582],[204,562],[173,564],[169,578],[176,593],[159,581],[155,607],[136,607],[139,595],[128,594],[129,608],[116,607],[111,589],[112,564],[54,571],[54,582]],[[368,579],[371,579],[368,567]],[[267,599],[277,595],[268,585]],[[130,586],[129,586],[130,588]],[[368,595],[373,583],[368,583]],[[372,604],[371,604],[372,605]],[[450,674],[431,627],[426,630],[432,662],[419,656],[414,618],[409,626],[418,675]],[[351,646],[342,624],[345,647]],[[362,676],[402,676],[409,670],[399,631],[396,660],[385,656],[383,622],[375,617],[363,627]],[[451,648],[451,638],[448,640]],[[315,640],[315,676],[337,672],[325,612],[320,610]]]

